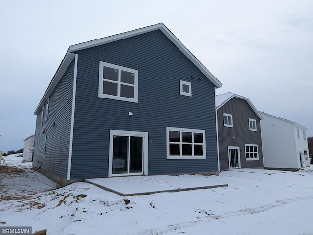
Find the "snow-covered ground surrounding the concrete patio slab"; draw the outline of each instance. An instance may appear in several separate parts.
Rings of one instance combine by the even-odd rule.
[[[272,175],[185,175],[229,186],[123,197],[85,182],[58,188],[22,157],[4,158],[0,226],[46,228],[47,235],[313,235],[312,165]]]

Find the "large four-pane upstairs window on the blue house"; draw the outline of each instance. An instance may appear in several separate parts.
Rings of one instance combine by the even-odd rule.
[[[100,61],[98,97],[138,103],[138,70]]]

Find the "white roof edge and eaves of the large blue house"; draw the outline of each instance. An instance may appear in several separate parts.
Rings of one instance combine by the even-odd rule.
[[[63,58],[57,72],[55,73],[55,75],[53,76],[47,90],[45,91],[45,94],[43,96],[43,98],[41,99],[40,103],[38,104],[34,114],[38,114],[40,112],[41,107],[45,104],[45,100],[49,97],[49,95],[52,93],[52,91],[54,90],[54,88],[56,87],[56,85],[58,84],[58,82],[60,81],[60,79],[62,78],[63,74],[65,73],[65,71],[67,70],[67,67],[69,66],[69,64],[71,63],[71,61],[74,59],[75,57],[75,52],[79,51],[79,50],[83,50],[83,49],[87,49],[90,47],[95,47],[95,46],[99,46],[99,45],[104,45],[113,41],[117,41],[117,40],[122,40],[122,39],[127,39],[130,37],[134,37],[136,35],[140,35],[140,34],[144,34],[144,33],[148,33],[151,31],[155,31],[155,30],[161,30],[164,35],[170,39],[178,48],[179,50],[192,62],[196,65],[196,67],[217,87],[221,87],[222,83],[215,78],[211,72],[209,70],[207,70],[203,64],[179,41],[179,39],[177,39],[175,37],[175,35],[163,24],[163,23],[159,23],[159,24],[155,24],[155,25],[151,25],[151,26],[147,26],[144,28],[140,28],[140,29],[136,29],[136,30],[132,30],[129,32],[125,32],[125,33],[121,33],[121,34],[116,34],[113,36],[109,36],[106,38],[101,38],[101,39],[95,39],[95,40],[91,40],[91,41],[87,41],[87,42],[83,42],[83,43],[79,43],[76,45],[72,45],[68,48],[67,53],[65,55],[65,57]]]

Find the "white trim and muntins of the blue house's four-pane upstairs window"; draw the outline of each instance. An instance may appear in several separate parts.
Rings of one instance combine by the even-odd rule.
[[[128,83],[123,83],[120,81],[120,76],[118,78],[118,81],[111,81],[113,83],[118,83],[118,88],[117,88],[117,96],[112,96],[112,95],[108,95],[108,94],[103,94],[103,67],[110,67],[110,68],[114,68],[114,69],[118,69],[118,70],[123,70],[126,72],[131,72],[134,73],[135,78],[134,78],[134,85],[132,84],[128,84]],[[120,74],[120,73],[119,73]],[[109,80],[108,80],[109,81]],[[120,87],[121,84],[125,84],[127,86],[134,86],[134,98],[128,98],[128,97],[121,97],[120,96]],[[131,69],[131,68],[127,68],[127,67],[123,67],[123,66],[119,66],[119,65],[115,65],[115,64],[110,64],[110,63],[106,63],[106,62],[102,62],[100,61],[99,63],[99,88],[98,88],[98,97],[99,98],[109,98],[109,99],[116,99],[116,100],[122,100],[122,101],[128,101],[128,102],[134,102],[134,103],[138,103],[138,70],[135,69]]]

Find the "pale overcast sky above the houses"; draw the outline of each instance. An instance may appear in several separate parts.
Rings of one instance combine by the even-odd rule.
[[[0,150],[23,148],[70,45],[163,22],[220,81],[313,136],[312,0],[0,0]]]

